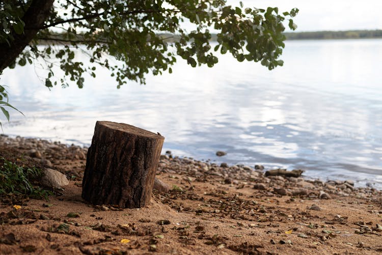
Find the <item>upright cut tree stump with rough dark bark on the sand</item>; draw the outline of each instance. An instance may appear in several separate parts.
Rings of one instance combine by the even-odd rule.
[[[97,121],[86,160],[83,199],[121,208],[147,205],[164,140],[159,133]]]

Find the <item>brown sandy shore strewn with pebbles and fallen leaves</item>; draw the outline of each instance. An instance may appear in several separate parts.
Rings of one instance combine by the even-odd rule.
[[[0,136],[0,157],[56,169],[70,183],[49,201],[17,202],[18,210],[2,200],[1,254],[382,252],[380,190],[162,155],[157,178],[172,187],[169,192],[154,190],[141,209],[94,207],[81,199],[86,153]]]

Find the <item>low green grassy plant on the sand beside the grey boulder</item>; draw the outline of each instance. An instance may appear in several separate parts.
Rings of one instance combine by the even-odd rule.
[[[41,169],[35,166],[19,166],[5,158],[1,160],[4,161],[4,164],[0,166],[0,195],[24,194],[35,199],[48,200],[48,196],[53,194],[51,191],[31,183],[41,177]]]

